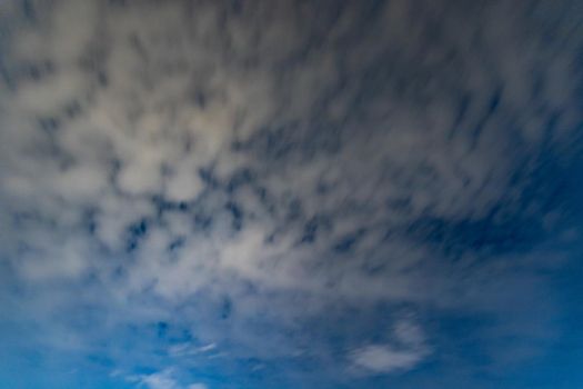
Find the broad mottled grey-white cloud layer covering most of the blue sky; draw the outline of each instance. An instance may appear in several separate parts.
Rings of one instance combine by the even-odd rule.
[[[330,306],[500,316],[496,290],[539,288],[515,247],[555,211],[545,158],[577,151],[566,27],[502,3],[153,4],[9,8],[7,299],[26,290],[59,329],[86,303],[109,330],[168,320],[190,333],[175,359],[328,360],[302,326]],[[340,333],[349,363],[420,363],[431,335],[393,321],[379,342]],[[141,380],[178,388],[168,370]]]

